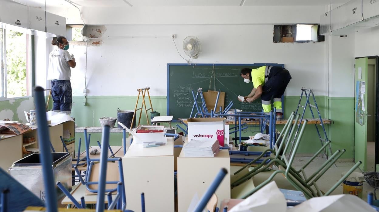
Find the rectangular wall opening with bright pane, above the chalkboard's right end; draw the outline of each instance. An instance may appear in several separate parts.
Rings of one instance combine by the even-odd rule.
[[[274,25],[274,43],[321,42],[325,36],[319,33],[318,24]]]

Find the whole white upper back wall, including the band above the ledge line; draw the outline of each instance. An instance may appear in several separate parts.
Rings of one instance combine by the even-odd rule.
[[[81,23],[76,8],[48,11],[67,17],[67,24]],[[293,78],[285,95],[293,96],[302,86],[326,95],[326,45],[275,44],[273,24],[318,23],[324,11],[324,6],[82,8],[82,16],[86,24],[105,25],[103,37],[175,34],[185,58],[183,39],[197,36],[202,52],[192,63],[283,63]],[[46,42],[49,49],[50,39]],[[77,60],[73,95],[83,95],[85,46],[71,42],[69,52]],[[151,95],[166,96],[168,63],[185,63],[171,38],[103,39],[101,46],[88,46],[88,95],[134,96],[136,88],[150,86]]]

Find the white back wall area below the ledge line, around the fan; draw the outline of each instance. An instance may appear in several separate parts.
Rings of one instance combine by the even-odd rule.
[[[202,52],[193,63],[283,63],[292,80],[286,95],[299,95],[302,86],[325,95],[324,42],[273,43],[273,25],[106,25],[104,36],[171,35],[183,57],[186,36],[200,39]],[[72,69],[73,95],[84,88],[85,46],[70,44],[77,67]],[[166,96],[167,63],[185,63],[171,38],[104,39],[88,47],[88,95],[136,95],[150,86],[151,95]]]

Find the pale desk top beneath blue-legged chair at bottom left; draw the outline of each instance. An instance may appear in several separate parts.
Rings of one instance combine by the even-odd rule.
[[[73,190],[70,192],[72,196],[80,203],[80,198],[84,196],[84,201],[86,204],[96,204],[97,202],[97,194],[94,195],[86,195],[86,186],[83,184],[76,185],[77,187],[73,187]],[[104,194],[104,203],[108,203],[108,197]],[[116,198],[116,194],[112,195],[112,199]],[[72,201],[66,196],[62,200],[63,205],[72,204]]]

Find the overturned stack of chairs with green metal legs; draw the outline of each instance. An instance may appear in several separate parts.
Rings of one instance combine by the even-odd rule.
[[[330,141],[328,141],[316,152],[316,154],[313,155],[313,157],[311,157],[311,159],[307,163],[305,163],[304,166],[302,166],[302,168],[296,170],[295,168],[293,168],[292,165],[308,121],[304,121],[300,128],[300,132],[298,132],[295,129],[297,128],[296,125],[298,124],[299,115],[296,116],[296,119],[293,122],[294,118],[294,113],[292,113],[289,121],[284,126],[282,133],[280,133],[280,136],[278,138],[278,141],[280,142],[277,142],[274,145],[274,149],[266,150],[272,152],[271,157],[266,158],[265,160],[263,160],[262,163],[260,163],[258,166],[254,168],[248,168],[249,165],[251,165],[254,162],[253,160],[251,163],[247,164],[246,166],[234,173],[234,177],[232,177],[233,182],[231,186],[237,187],[238,185],[241,185],[244,182],[251,179],[252,177],[254,177],[256,174],[260,173],[261,171],[267,170],[271,165],[276,165],[279,167],[279,170],[274,171],[266,181],[262,182],[262,184],[257,185],[254,189],[250,190],[249,192],[240,194],[240,198],[246,198],[251,194],[255,193],[257,190],[259,190],[260,188],[268,184],[270,181],[272,181],[276,174],[279,173],[283,174],[287,181],[291,185],[293,185],[293,187],[295,187],[297,190],[303,192],[305,197],[308,199],[316,196],[327,196],[330,193],[332,193],[335,190],[335,188],[337,188],[346,179],[346,177],[348,177],[361,164],[361,162],[358,162],[354,166],[352,166],[352,168],[350,168],[350,170],[343,177],[341,177],[338,180],[338,182],[334,184],[332,188],[330,188],[326,193],[321,192],[317,185],[317,181],[324,175],[324,173],[326,173],[330,166],[332,166],[341,157],[341,155],[345,152],[345,149],[343,149],[342,151],[337,150],[334,154],[332,154],[329,157],[328,160],[326,160],[326,162],[324,162],[318,168],[318,170],[312,173],[309,177],[306,176],[304,171],[305,168],[318,156],[320,152],[324,151],[324,149],[327,148],[328,144],[330,143]],[[291,154],[290,158],[287,158],[286,154],[291,146],[290,140],[293,138],[294,135],[297,135],[297,137],[296,142],[291,147],[293,149],[293,154]],[[263,152],[255,160],[262,158],[264,156],[264,153],[265,152]],[[267,160],[270,160],[270,162],[268,164],[265,164]],[[247,168],[249,169],[249,171],[247,171]]]

